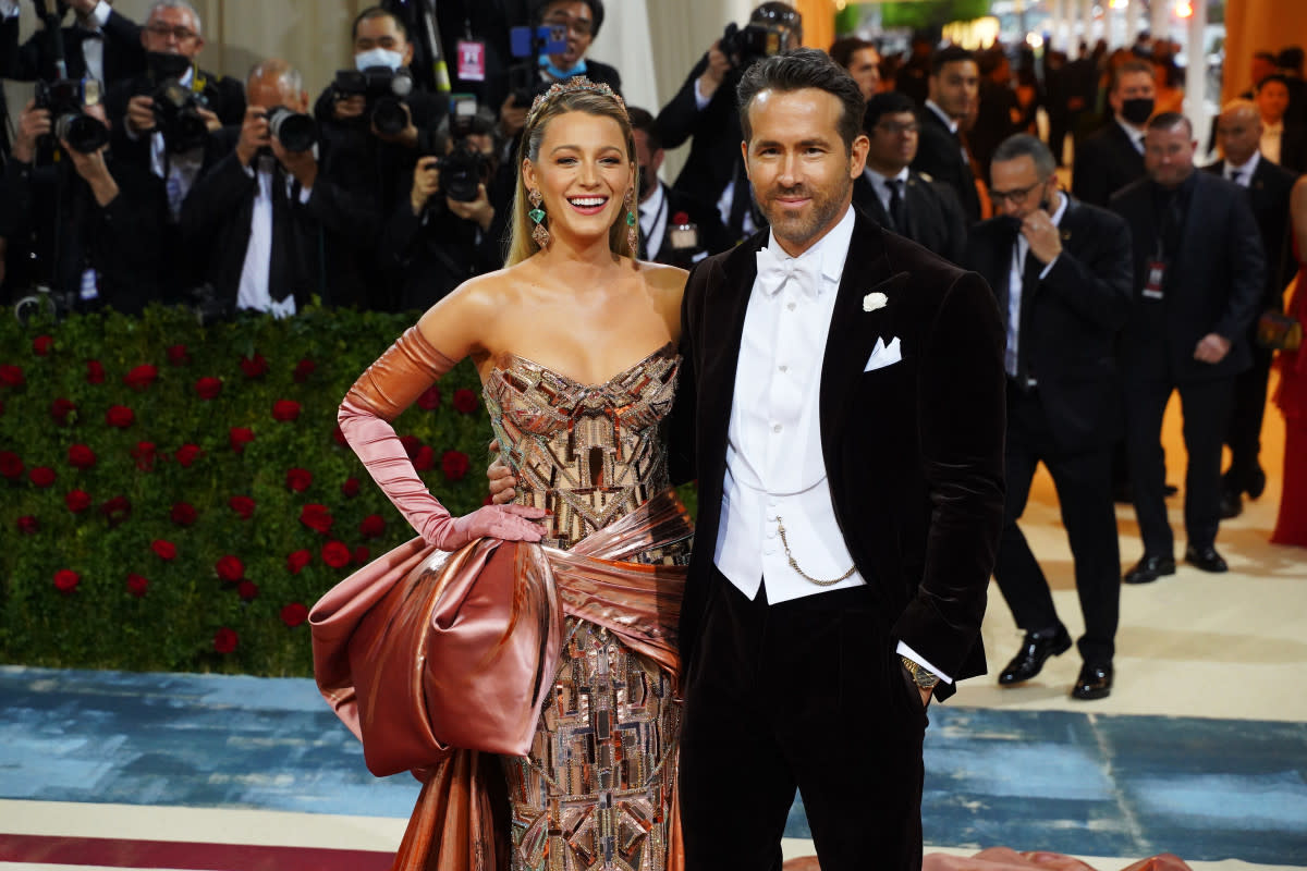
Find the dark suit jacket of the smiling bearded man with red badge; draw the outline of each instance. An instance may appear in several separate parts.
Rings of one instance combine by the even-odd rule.
[[[1112,197],[1134,244],[1134,308],[1121,332],[1120,364],[1127,377],[1171,377],[1193,383],[1229,377],[1252,362],[1248,325],[1257,315],[1266,260],[1248,197],[1239,185],[1195,172],[1180,249],[1167,266],[1166,299],[1145,302],[1149,261],[1157,253],[1154,184],[1144,178]],[[1208,333],[1231,342],[1216,364],[1193,359]]]

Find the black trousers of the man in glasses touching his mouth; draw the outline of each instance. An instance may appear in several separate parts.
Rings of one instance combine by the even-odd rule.
[[[1076,592],[1085,618],[1080,654],[1091,665],[1111,665],[1121,599],[1121,556],[1112,504],[1112,447],[1067,452],[1057,447],[1038,388],[1023,393],[1009,383],[1006,500],[1002,538],[993,575],[1026,632],[1061,626],[1048,581],[1017,521],[1026,511],[1030,482],[1043,462],[1057,488],[1063,525],[1076,564]]]

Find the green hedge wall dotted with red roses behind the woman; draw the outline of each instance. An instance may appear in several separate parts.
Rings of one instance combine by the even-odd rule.
[[[307,609],[413,535],[336,427],[412,323],[0,317],[0,661],[310,674]],[[451,511],[482,503],[469,363],[396,431]]]

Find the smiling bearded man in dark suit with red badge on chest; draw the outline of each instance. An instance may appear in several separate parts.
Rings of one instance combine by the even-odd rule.
[[[1163,494],[1161,432],[1166,404],[1184,405],[1184,559],[1225,572],[1216,550],[1221,522],[1221,443],[1235,376],[1252,364],[1248,325],[1265,287],[1265,256],[1248,196],[1193,167],[1193,128],[1163,112],[1149,121],[1148,178],[1112,197],[1134,244],[1134,307],[1121,332],[1125,444],[1144,556],[1125,573],[1146,584],[1175,573]]]

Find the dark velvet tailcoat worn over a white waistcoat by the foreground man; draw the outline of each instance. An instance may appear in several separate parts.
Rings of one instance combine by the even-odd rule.
[[[682,469],[693,445],[699,478],[681,606],[686,670],[714,582],[736,366],[766,242],[759,232],[701,262],[682,300],[669,444]],[[864,311],[873,291],[889,302]],[[895,338],[902,359],[865,372],[877,340]],[[831,499],[886,631],[955,679],[984,673],[980,620],[1002,524],[1002,343],[979,276],[856,215],[818,396]]]

